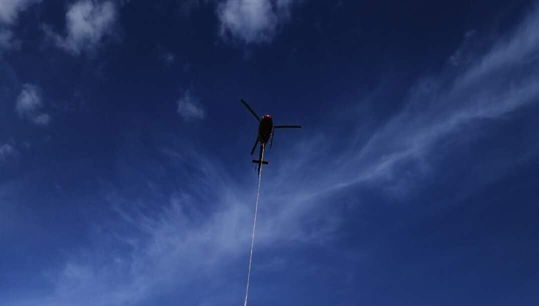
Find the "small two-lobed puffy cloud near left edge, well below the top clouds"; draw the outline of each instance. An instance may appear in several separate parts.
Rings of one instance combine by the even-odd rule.
[[[42,108],[43,102],[39,94],[39,88],[32,84],[24,84],[15,105],[19,116],[39,126],[46,126],[51,120],[51,116],[42,113]]]

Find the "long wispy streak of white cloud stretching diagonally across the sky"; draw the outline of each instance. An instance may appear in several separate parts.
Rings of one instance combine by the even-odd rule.
[[[402,194],[413,185],[414,175],[424,175],[435,166],[434,156],[441,154],[436,151],[437,143],[467,131],[476,121],[496,120],[536,103],[539,72],[531,66],[536,67],[539,60],[534,57],[539,48],[539,31],[533,30],[537,29],[537,20],[538,10],[510,37],[475,57],[457,75],[447,73],[419,81],[402,112],[372,131],[367,142],[342,145],[322,131],[311,140],[301,141],[286,161],[275,166],[271,181],[265,182],[262,177],[255,248],[260,251],[290,241],[324,243],[333,237],[341,218],[338,210],[328,213],[327,199],[334,191],[368,183]],[[204,117],[198,108],[189,106],[191,102],[186,94],[178,101],[178,113],[186,120]],[[341,153],[328,159],[328,151],[314,150],[321,148],[320,144],[323,148],[340,146]],[[105,200],[119,219],[115,226],[108,227],[108,240],[73,255],[61,268],[49,272],[54,288],[50,295],[12,304],[143,303],[167,288],[209,283],[216,274],[229,271],[231,265],[246,258],[254,184],[237,182],[217,162],[196,152],[179,154],[167,148],[162,155],[168,166],[188,164],[197,170],[183,187],[189,192],[167,194],[164,203],[158,194],[141,200],[143,203],[107,194]],[[416,171],[411,176],[400,173],[403,166]],[[291,186],[291,182],[295,184]],[[253,192],[245,192],[247,187]],[[199,207],[208,205],[200,203],[212,203],[215,210],[204,212]],[[156,212],[150,207],[161,208]],[[313,220],[316,227],[309,226]],[[124,247],[118,251],[111,246]],[[233,290],[237,291],[237,302],[241,302],[243,282]]]

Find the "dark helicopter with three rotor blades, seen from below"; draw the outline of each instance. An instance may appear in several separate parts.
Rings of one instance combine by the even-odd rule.
[[[254,141],[253,148],[251,149],[251,155],[253,155],[254,150],[257,148],[258,143],[260,142],[260,150],[259,150],[259,157],[258,160],[253,159],[252,162],[258,164],[258,175],[260,175],[260,168],[262,167],[262,164],[268,165],[269,162],[262,161],[262,152],[264,152],[265,145],[269,141],[269,148],[272,147],[273,144],[273,135],[275,134],[275,129],[298,129],[301,128],[301,126],[295,126],[295,125],[279,125],[274,126],[273,125],[273,119],[270,115],[266,114],[264,116],[257,115],[256,112],[245,102],[244,99],[240,99],[240,102],[243,103],[243,105],[253,114],[253,116],[258,121],[258,134],[257,134],[257,140]]]

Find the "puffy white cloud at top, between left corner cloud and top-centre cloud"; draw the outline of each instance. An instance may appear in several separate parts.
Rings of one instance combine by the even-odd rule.
[[[118,12],[111,1],[80,0],[73,3],[66,13],[67,36],[61,37],[45,27],[58,47],[78,55],[93,51],[106,36],[113,34]]]

